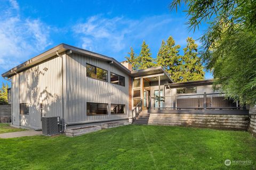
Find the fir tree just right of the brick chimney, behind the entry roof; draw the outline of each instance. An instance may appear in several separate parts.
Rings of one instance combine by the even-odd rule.
[[[141,45],[141,51],[140,51],[140,55],[137,57],[137,62],[138,62],[138,67],[137,67],[138,70],[147,69],[155,66],[154,58],[151,57],[150,48],[146,44],[145,40]]]

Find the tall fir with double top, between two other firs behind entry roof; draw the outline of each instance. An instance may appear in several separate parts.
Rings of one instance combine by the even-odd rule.
[[[181,59],[179,53],[180,45],[175,45],[175,41],[170,36],[166,43],[163,40],[162,45],[157,53],[156,63],[158,66],[162,66],[167,73],[170,74],[174,82],[180,80],[179,72]]]

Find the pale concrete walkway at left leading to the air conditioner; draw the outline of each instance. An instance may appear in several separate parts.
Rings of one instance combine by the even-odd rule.
[[[7,138],[19,138],[19,137],[29,137],[42,134],[42,131],[20,131],[20,132],[10,132],[10,133],[1,133],[0,138],[7,139]]]

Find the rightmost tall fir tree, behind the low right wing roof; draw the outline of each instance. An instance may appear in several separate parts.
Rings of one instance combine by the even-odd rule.
[[[183,48],[184,55],[181,57],[181,72],[179,82],[196,81],[204,79],[204,67],[201,58],[197,56],[197,44],[191,37],[187,38],[187,46]]]

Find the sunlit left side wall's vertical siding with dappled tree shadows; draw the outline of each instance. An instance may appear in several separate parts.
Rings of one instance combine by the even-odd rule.
[[[19,115],[20,103],[29,104],[29,115],[20,115],[21,126],[42,127],[40,103],[44,104],[43,116],[62,117],[61,63],[61,58],[55,57],[12,77],[13,115]],[[20,86],[20,99],[17,99],[17,84]]]

